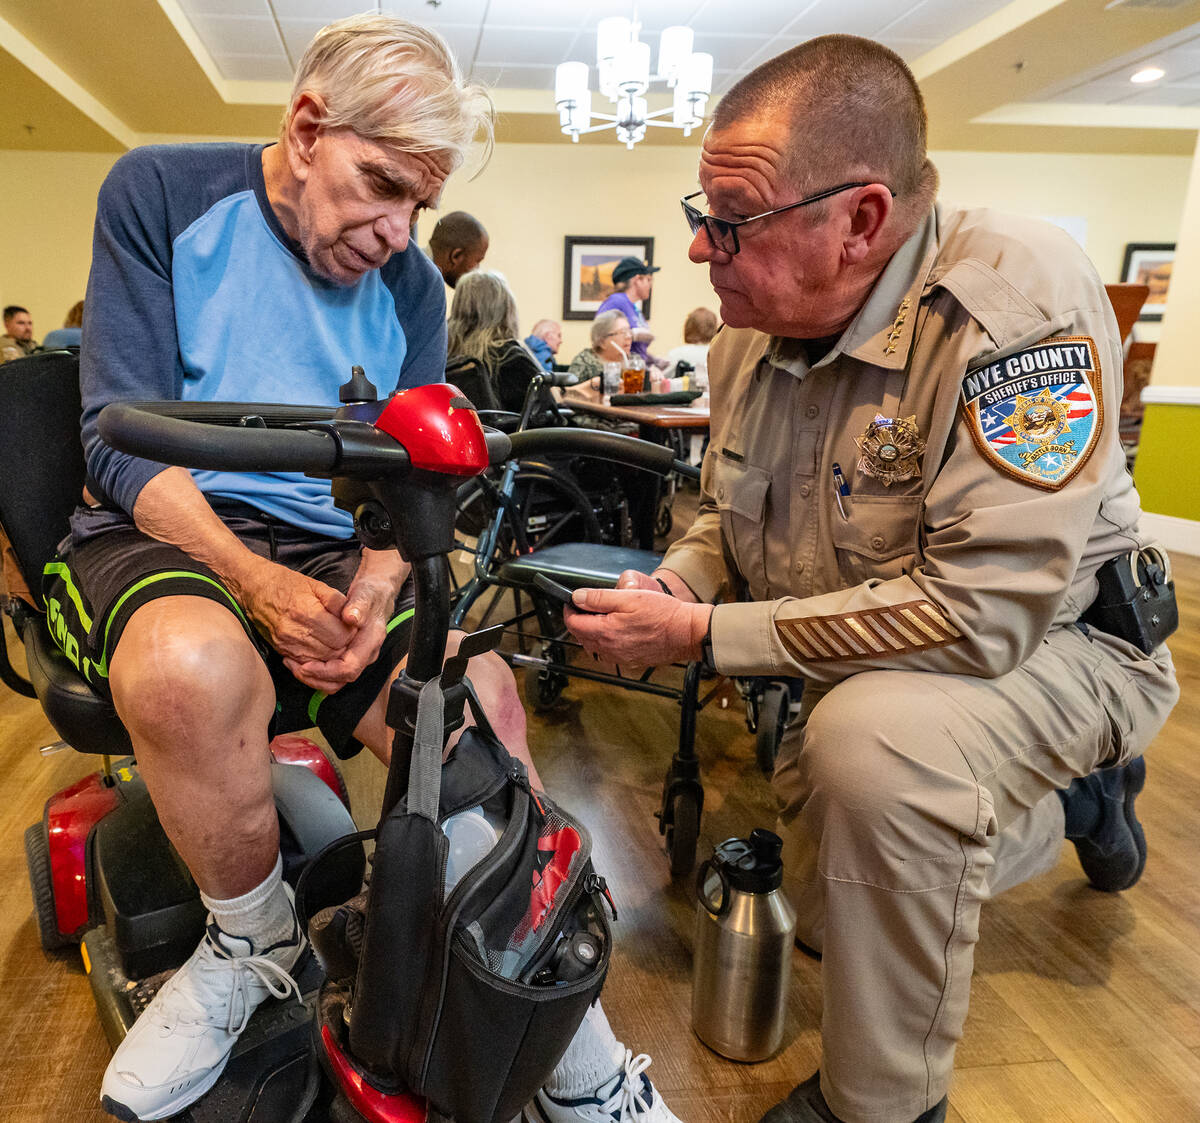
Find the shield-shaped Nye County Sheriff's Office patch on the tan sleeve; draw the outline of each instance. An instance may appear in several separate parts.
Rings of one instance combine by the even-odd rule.
[[[979,450],[1001,470],[1056,491],[1100,436],[1100,362],[1087,336],[1045,340],[968,371],[962,409]]]

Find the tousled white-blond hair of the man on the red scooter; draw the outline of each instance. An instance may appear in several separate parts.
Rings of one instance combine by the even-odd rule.
[[[296,67],[283,127],[302,94],[325,103],[323,124],[403,152],[445,152],[451,169],[482,131],[491,155],[494,109],[466,84],[445,40],[396,16],[365,13],[322,28]]]

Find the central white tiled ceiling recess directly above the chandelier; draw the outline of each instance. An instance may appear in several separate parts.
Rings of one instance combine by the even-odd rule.
[[[830,31],[880,40],[907,60],[1006,6],[1008,0],[642,0],[642,38],[656,49],[671,24],[712,53],[721,92],[757,62]],[[180,0],[222,74],[286,79],[312,36],[370,0]],[[550,89],[554,67],[595,65],[595,24],[635,14],[629,0],[377,0],[378,10],[436,28],[463,68],[499,88]]]

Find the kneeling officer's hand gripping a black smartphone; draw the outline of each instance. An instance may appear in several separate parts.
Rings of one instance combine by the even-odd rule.
[[[713,606],[667,596],[647,579],[653,591],[646,585],[576,590],[574,601],[587,612],[566,607],[563,619],[584,651],[626,669],[700,659]]]

